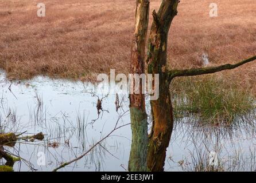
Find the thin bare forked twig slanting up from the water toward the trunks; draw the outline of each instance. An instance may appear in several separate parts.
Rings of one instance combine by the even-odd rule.
[[[128,111],[126,111],[126,112],[128,112]],[[125,113],[126,113],[126,112],[125,112]],[[71,161],[68,161],[68,162],[65,162],[65,163],[61,164],[59,167],[57,167],[56,169],[54,169],[52,172],[57,172],[57,170],[59,170],[59,169],[61,169],[61,168],[64,168],[65,166],[67,166],[67,165],[69,165],[69,164],[72,164],[73,162],[75,162],[75,161],[77,161],[77,160],[80,160],[81,158],[83,158],[84,156],[86,156],[88,153],[90,153],[91,150],[94,149],[97,145],[100,145],[100,143],[101,143],[102,141],[106,140],[106,138],[108,138],[113,132],[115,132],[115,130],[120,129],[120,128],[122,128],[123,126],[130,125],[130,123],[129,123],[129,124],[125,124],[125,125],[122,125],[122,126],[118,126],[118,127],[117,127],[119,120],[123,117],[123,115],[124,115],[125,113],[123,113],[121,116],[118,117],[117,123],[115,124],[115,128],[114,128],[110,133],[108,133],[107,136],[105,136],[105,137],[102,138],[100,141],[98,141],[96,144],[94,144],[93,146],[91,146],[91,148],[88,149],[87,152],[85,152],[85,153],[82,154],[81,156],[79,156],[79,157],[77,157],[77,158],[75,158],[75,159],[73,159],[73,160],[71,160]]]

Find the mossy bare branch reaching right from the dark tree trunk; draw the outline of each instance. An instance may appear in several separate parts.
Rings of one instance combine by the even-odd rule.
[[[235,69],[236,67],[239,67],[245,63],[254,61],[255,59],[256,59],[256,56],[245,59],[245,60],[235,63],[235,64],[228,63],[225,65],[220,65],[220,66],[216,66],[216,67],[204,67],[204,68],[185,69],[185,70],[179,70],[179,69],[169,70],[168,71],[168,81],[171,81],[175,77],[211,74],[211,73],[216,73],[216,72],[219,72],[222,70]]]

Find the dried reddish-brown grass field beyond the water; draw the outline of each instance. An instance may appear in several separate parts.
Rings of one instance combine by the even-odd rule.
[[[160,2],[151,0],[151,9]],[[211,2],[181,0],[169,33],[170,66],[202,66],[203,53],[210,65],[256,54],[256,1],[215,0],[218,17],[209,16]],[[87,80],[110,69],[129,73],[134,0],[45,0],[46,17],[37,17],[37,3],[0,0],[0,67],[9,78]],[[253,62],[223,73],[228,82],[255,89],[255,71]]]

